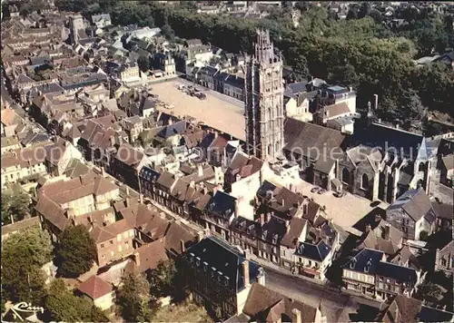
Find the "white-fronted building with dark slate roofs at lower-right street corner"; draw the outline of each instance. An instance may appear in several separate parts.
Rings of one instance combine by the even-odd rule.
[[[360,250],[342,266],[346,289],[378,299],[400,294],[410,296],[419,279],[419,271],[390,263],[383,251],[368,248]]]

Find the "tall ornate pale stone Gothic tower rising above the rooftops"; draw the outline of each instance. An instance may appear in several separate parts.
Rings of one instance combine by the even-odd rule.
[[[257,31],[244,85],[246,151],[262,160],[274,159],[283,148],[284,89],[281,57],[274,54],[269,31]]]

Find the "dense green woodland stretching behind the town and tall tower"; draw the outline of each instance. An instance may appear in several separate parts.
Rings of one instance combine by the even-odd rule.
[[[254,20],[199,15],[193,2],[58,0],[55,5],[87,16],[110,13],[114,24],[159,26],[166,34],[199,38],[233,53],[251,53],[256,29],[268,28],[295,73],[352,86],[359,108],[377,93],[378,114],[386,120],[403,122],[410,116],[418,122],[427,111],[454,117],[454,73],[444,65],[417,67],[413,62],[432,49],[454,47],[449,15],[402,9],[397,15],[408,24],[392,29],[381,23],[382,13],[369,4],[353,6],[347,20],[338,20],[325,6],[298,2],[301,19],[294,28],[285,6],[266,19]]]

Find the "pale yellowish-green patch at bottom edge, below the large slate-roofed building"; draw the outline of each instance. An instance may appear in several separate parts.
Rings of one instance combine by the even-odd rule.
[[[153,322],[212,322],[204,308],[190,301],[153,310]]]

